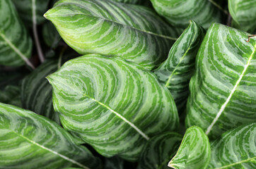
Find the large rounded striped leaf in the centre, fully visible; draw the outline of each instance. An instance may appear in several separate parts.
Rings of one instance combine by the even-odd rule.
[[[152,73],[122,58],[81,56],[47,79],[63,127],[103,156],[136,161],[150,137],[178,127],[168,89]]]

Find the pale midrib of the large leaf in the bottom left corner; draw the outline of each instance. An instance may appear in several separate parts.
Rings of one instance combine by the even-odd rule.
[[[8,130],[10,130],[10,129],[8,129]],[[74,164],[80,166],[80,167],[83,168],[83,169],[90,169],[90,168],[86,167],[85,165],[83,165],[83,164],[81,164],[81,163],[78,163],[77,161],[74,161],[74,160],[72,160],[71,158],[69,158],[69,157],[67,157],[67,156],[64,156],[64,155],[62,155],[62,154],[59,154],[58,152],[53,151],[52,149],[48,149],[47,147],[42,146],[41,144],[38,144],[37,142],[34,142],[33,140],[30,140],[30,139],[28,139],[27,137],[25,137],[25,136],[23,136],[23,135],[21,135],[21,134],[18,134],[18,132],[15,132],[15,131],[13,131],[13,130],[11,130],[11,132],[13,132],[14,134],[18,135],[19,137],[22,137],[23,139],[27,140],[28,142],[30,142],[30,143],[32,143],[32,144],[35,144],[36,146],[39,146],[41,149],[45,149],[45,150],[47,150],[47,151],[50,151],[52,154],[55,154],[55,155],[57,155],[57,156],[59,156],[59,157],[61,157],[61,158],[64,158],[64,160],[69,161],[70,163],[74,163]]]

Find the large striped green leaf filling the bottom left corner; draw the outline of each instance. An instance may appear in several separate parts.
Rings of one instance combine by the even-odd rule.
[[[0,104],[0,168],[100,168],[100,161],[57,123]]]

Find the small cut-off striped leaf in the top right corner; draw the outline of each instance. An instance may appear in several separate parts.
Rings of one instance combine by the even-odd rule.
[[[255,0],[228,0],[228,10],[235,21],[233,26],[246,32],[256,30]]]

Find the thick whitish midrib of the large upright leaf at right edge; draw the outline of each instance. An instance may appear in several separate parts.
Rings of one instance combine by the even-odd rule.
[[[221,106],[221,109],[219,110],[219,112],[216,114],[216,117],[214,118],[214,120],[211,122],[211,124],[209,125],[209,127],[207,128],[205,134],[208,135],[209,132],[211,132],[212,127],[214,127],[215,123],[217,122],[217,120],[219,120],[219,117],[221,116],[221,114],[223,113],[223,111],[225,110],[228,102],[231,100],[231,97],[233,96],[233,94],[235,93],[236,88],[238,87],[238,84],[240,83],[240,81],[243,79],[243,76],[247,70],[247,68],[250,65],[250,61],[252,60],[252,56],[255,54],[256,51],[256,44],[254,46],[254,50],[252,51],[252,54],[250,55],[248,62],[245,65],[245,68],[243,69],[243,72],[241,73],[239,79],[237,82],[235,82],[235,86],[233,87],[233,89],[231,90],[231,94],[229,94],[228,98],[226,99],[226,101],[224,102],[224,104]]]

